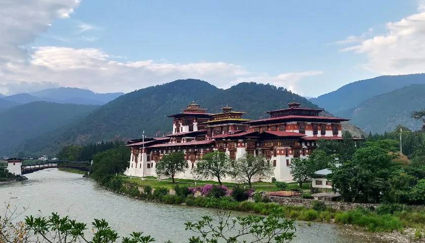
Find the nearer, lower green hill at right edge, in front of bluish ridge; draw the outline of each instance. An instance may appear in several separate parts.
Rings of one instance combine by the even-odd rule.
[[[350,122],[366,133],[384,133],[393,131],[399,124],[418,130],[421,123],[411,118],[410,114],[424,108],[425,85],[410,85],[372,97],[352,109],[336,114],[351,118]]]

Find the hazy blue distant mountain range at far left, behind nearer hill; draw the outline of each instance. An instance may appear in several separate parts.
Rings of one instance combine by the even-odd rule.
[[[60,87],[10,96],[0,95],[0,111],[5,111],[19,104],[27,104],[34,101],[48,101],[62,104],[103,105],[123,94],[124,93],[97,94],[90,90]]]

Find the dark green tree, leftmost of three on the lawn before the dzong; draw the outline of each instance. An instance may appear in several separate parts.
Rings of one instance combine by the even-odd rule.
[[[164,154],[156,163],[155,172],[158,176],[169,176],[174,181],[176,173],[184,172],[186,166],[185,154],[181,151]]]

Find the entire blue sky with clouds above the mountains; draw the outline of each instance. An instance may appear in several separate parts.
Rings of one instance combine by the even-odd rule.
[[[316,97],[425,72],[425,0],[0,0],[0,93],[198,78]]]

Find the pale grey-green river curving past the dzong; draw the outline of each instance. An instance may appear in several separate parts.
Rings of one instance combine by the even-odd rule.
[[[202,215],[214,215],[215,210],[164,205],[137,200],[115,194],[99,187],[81,175],[46,169],[26,175],[28,180],[0,184],[0,201],[26,207],[24,215],[43,215],[58,212],[91,225],[94,218],[104,218],[120,235],[133,231],[151,234],[156,242],[171,239],[187,242],[193,235],[184,230],[184,223],[195,221]],[[4,206],[0,206],[4,211]],[[238,213],[241,214],[241,213]],[[23,218],[23,217],[22,217]],[[22,219],[21,218],[21,219]],[[347,235],[342,226],[297,221],[293,242],[360,243],[381,242],[376,239]]]

